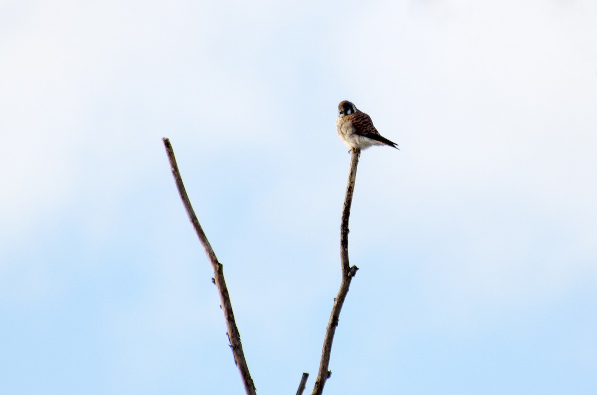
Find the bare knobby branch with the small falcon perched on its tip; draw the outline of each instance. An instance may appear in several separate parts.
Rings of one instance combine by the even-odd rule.
[[[332,342],[334,341],[334,334],[336,334],[336,326],[340,319],[340,310],[346,299],[346,294],[350,287],[352,277],[355,276],[358,267],[350,267],[348,260],[348,219],[350,217],[350,205],[352,205],[352,195],[355,191],[356,180],[356,166],[359,164],[359,156],[361,150],[353,149],[352,157],[350,158],[350,171],[348,175],[348,185],[346,186],[346,196],[344,196],[344,208],[342,210],[342,221],[340,224],[340,263],[342,265],[342,282],[340,283],[340,291],[334,300],[334,307],[330,314],[330,321],[325,332],[324,348],[321,351],[321,363],[319,363],[319,372],[315,387],[313,387],[312,395],[321,395],[324,391],[325,381],[330,378],[332,372],[328,371],[330,365],[330,354],[332,351]]]

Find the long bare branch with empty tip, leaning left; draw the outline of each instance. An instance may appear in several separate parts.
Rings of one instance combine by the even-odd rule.
[[[238,332],[238,328],[236,328],[234,313],[232,311],[232,303],[230,303],[230,295],[228,294],[226,282],[224,281],[222,264],[218,262],[216,253],[214,252],[213,248],[211,248],[210,242],[207,240],[207,236],[205,236],[205,233],[199,224],[199,220],[195,215],[195,211],[193,211],[193,207],[190,204],[189,196],[184,189],[183,180],[180,177],[179,166],[176,164],[176,158],[174,157],[174,150],[172,149],[170,140],[165,137],[162,138],[162,140],[164,141],[168,160],[170,161],[170,169],[174,177],[174,182],[176,182],[176,187],[179,190],[180,199],[183,201],[184,209],[186,209],[189,220],[193,224],[195,233],[197,233],[199,241],[205,250],[205,254],[210,260],[212,269],[214,270],[213,282],[216,284],[218,293],[220,294],[220,303],[221,308],[224,311],[224,317],[226,318],[226,326],[228,329],[227,335],[230,341],[230,348],[232,348],[234,362],[241,373],[242,384],[245,386],[245,392],[247,395],[256,395],[255,385],[253,384],[253,379],[249,373],[247,361],[245,360],[245,354],[242,352],[241,335]]]

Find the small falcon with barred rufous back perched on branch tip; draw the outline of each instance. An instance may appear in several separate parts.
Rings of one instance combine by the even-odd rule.
[[[364,150],[371,146],[390,146],[398,149],[398,144],[382,137],[373,126],[371,117],[357,110],[350,101],[340,101],[338,111],[340,112],[336,119],[338,135],[351,150]]]

